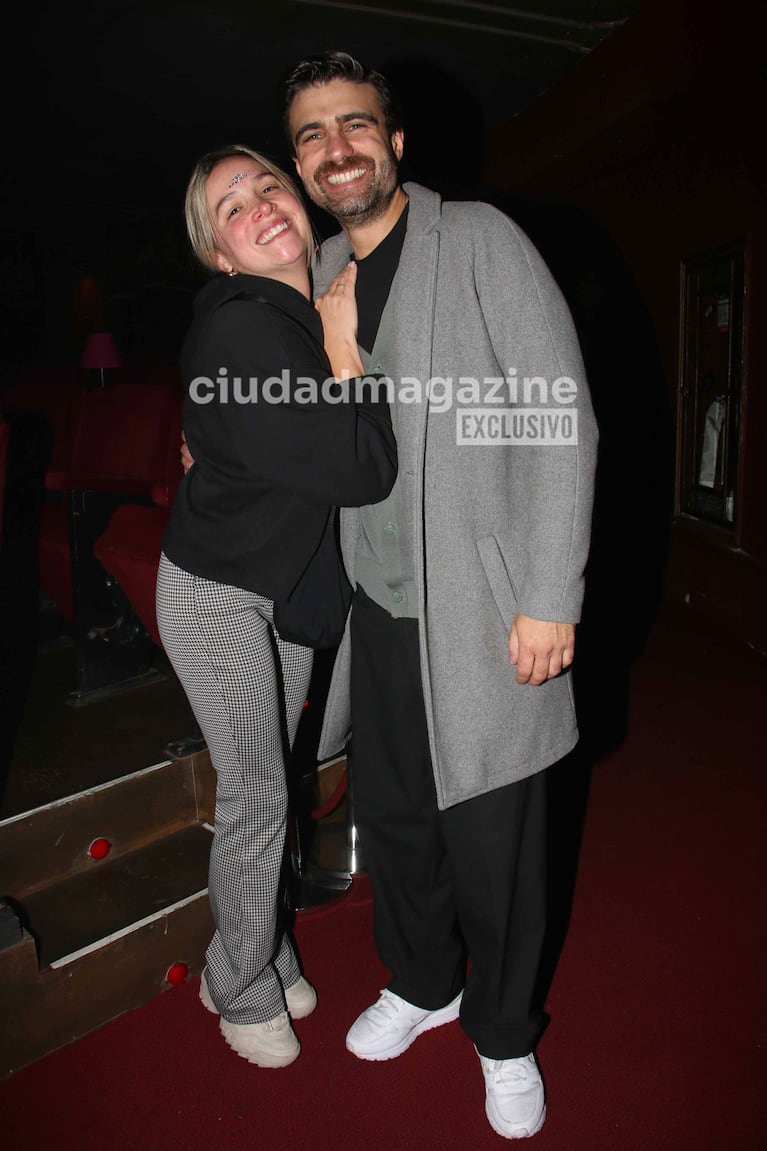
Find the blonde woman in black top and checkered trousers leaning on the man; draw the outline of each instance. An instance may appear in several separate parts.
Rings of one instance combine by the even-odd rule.
[[[356,269],[312,304],[314,236],[289,177],[249,147],[208,153],[185,215],[212,279],[181,355],[193,464],[165,534],[157,610],[217,771],[200,999],[237,1054],[283,1067],[301,1050],[291,1022],[317,996],[282,922],[286,757],[312,668],[282,612],[312,589],[318,557],[325,571],[329,549],[339,562],[336,506],[388,495],[396,450],[388,404],[335,383],[364,374]],[[324,585],[312,590],[321,604]]]

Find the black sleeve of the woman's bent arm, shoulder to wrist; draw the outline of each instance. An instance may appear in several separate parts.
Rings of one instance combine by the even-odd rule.
[[[223,375],[222,412],[231,451],[257,481],[317,503],[362,506],[384,500],[396,478],[396,444],[381,389],[365,388],[355,402],[333,402],[320,345],[297,321],[264,302],[231,300],[206,326],[195,356],[195,375]],[[214,402],[222,392],[213,389]]]

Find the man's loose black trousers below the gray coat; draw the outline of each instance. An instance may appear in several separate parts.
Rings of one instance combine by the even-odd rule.
[[[358,589],[351,645],[355,820],[389,989],[434,1011],[463,988],[461,1024],[479,1053],[525,1055],[546,1026],[533,1005],[546,772],[440,811],[417,620],[394,619]]]

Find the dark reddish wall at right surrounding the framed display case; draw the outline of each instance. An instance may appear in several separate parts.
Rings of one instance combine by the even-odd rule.
[[[767,651],[767,75],[760,5],[647,2],[506,129],[485,178],[514,197],[586,341],[601,466],[592,585],[612,611],[666,594]],[[747,314],[735,533],[677,513],[681,268],[746,242]],[[668,550],[666,552],[666,541]],[[616,617],[617,618],[617,617]]]

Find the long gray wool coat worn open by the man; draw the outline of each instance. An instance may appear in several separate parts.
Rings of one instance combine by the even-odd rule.
[[[372,367],[395,387],[403,514],[415,528],[424,700],[441,809],[542,770],[577,741],[571,676],[516,683],[508,641],[515,613],[575,623],[588,551],[597,427],[569,310],[530,239],[481,203],[442,203],[417,184],[398,269]],[[340,234],[314,270],[325,290],[349,258]],[[493,384],[512,378],[508,386]],[[449,411],[400,398],[403,378],[477,380]],[[546,411],[577,411],[577,444],[468,442],[465,410],[536,406],[524,376],[548,384]],[[560,401],[552,384],[569,378]],[[489,381],[489,382],[486,382]],[[494,394],[483,403],[488,389]],[[445,394],[440,386],[441,395]],[[480,399],[479,404],[471,401]],[[527,403],[525,403],[525,399]],[[516,401],[516,402],[515,402]],[[443,402],[441,404],[443,406]],[[476,428],[468,418],[469,428]],[[358,512],[343,509],[341,544],[354,584]],[[576,643],[577,650],[577,643]],[[577,658],[577,655],[576,655]],[[320,760],[351,731],[349,626],[339,649],[319,742]]]

